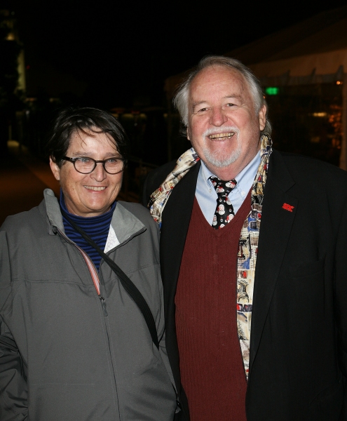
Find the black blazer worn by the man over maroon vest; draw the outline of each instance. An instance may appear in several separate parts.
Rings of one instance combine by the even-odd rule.
[[[144,203],[174,166],[149,173]],[[166,347],[177,385],[175,291],[198,169],[173,189],[161,229]],[[346,201],[345,171],[271,154],[254,280],[248,421],[347,420]],[[184,393],[182,405],[188,420]]]

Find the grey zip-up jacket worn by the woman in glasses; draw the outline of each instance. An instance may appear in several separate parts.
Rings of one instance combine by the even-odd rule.
[[[44,196],[0,229],[0,420],[173,420],[156,223],[141,205],[118,202],[105,251],[147,301],[159,350],[102,261],[103,309],[93,264],[64,235],[53,192]]]

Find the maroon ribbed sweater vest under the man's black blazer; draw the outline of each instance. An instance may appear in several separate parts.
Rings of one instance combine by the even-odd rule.
[[[214,229],[194,199],[175,296],[180,370],[191,421],[246,421],[236,273],[240,231],[249,212],[250,193],[235,218]]]

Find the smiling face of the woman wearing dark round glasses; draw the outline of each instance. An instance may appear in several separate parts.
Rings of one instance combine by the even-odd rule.
[[[114,145],[105,133],[74,133],[70,139],[67,154],[69,158],[88,156],[96,161],[120,157]],[[90,174],[81,174],[74,164],[63,161],[61,168],[50,159],[50,168],[64,193],[67,209],[79,216],[97,216],[109,210],[121,190],[123,172],[109,174],[98,163]]]

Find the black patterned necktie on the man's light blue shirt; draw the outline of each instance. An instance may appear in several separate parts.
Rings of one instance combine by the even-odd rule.
[[[236,180],[223,181],[217,177],[210,177],[212,185],[218,194],[217,208],[215,215],[213,216],[212,227],[215,229],[221,229],[229,224],[229,222],[235,216],[233,211],[233,205],[229,201],[229,193],[236,187]]]

